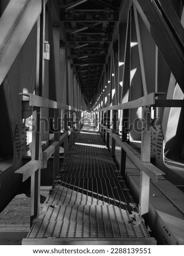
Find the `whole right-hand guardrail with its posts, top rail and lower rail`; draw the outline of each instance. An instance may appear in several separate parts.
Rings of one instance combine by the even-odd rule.
[[[151,107],[183,107],[183,100],[159,100],[157,96],[163,93],[151,93],[140,97],[137,100],[122,103],[120,105],[109,106],[97,109],[98,118],[106,125],[99,123],[101,136],[109,148],[109,138],[112,138],[111,155],[115,157],[115,146],[121,148],[120,173],[123,178],[126,176],[126,157],[140,170],[140,194],[139,194],[139,214],[146,216],[149,211],[150,179],[157,182],[158,176],[164,175],[162,170],[150,163],[151,154]],[[128,111],[132,108],[142,107],[142,132],[140,154],[128,144]],[[116,132],[116,121],[118,110],[122,110],[122,132],[121,138]],[[109,119],[112,111],[112,129],[110,129]]]

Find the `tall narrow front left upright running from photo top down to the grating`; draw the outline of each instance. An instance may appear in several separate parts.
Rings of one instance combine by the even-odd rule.
[[[37,56],[36,56],[36,95],[42,96],[44,88],[44,41],[45,41],[45,1],[42,0],[42,12],[37,22]],[[32,135],[32,160],[41,160],[40,108],[33,107],[35,127]],[[41,166],[31,175],[30,181],[30,226],[40,212],[40,176]]]

